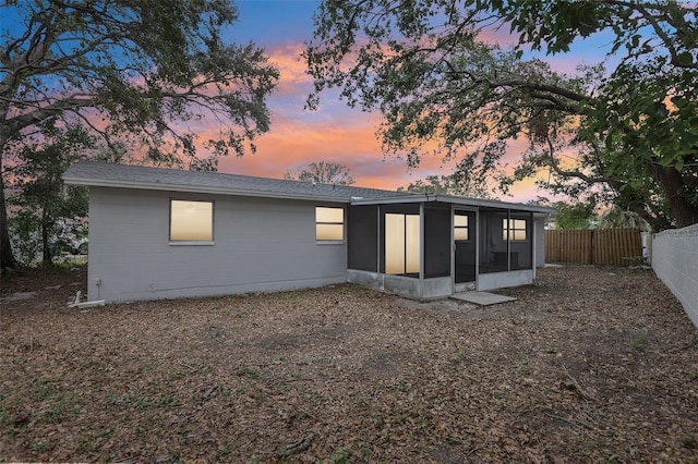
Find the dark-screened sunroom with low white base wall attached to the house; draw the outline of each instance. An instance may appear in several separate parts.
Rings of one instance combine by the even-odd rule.
[[[549,213],[443,195],[352,199],[348,280],[419,300],[528,284]]]

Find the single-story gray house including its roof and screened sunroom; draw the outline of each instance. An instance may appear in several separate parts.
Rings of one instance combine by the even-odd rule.
[[[531,283],[535,205],[80,161],[88,298],[222,295],[353,282],[408,297]]]

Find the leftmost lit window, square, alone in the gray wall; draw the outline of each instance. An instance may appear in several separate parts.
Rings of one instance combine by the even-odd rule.
[[[214,203],[170,200],[170,242],[214,240]]]

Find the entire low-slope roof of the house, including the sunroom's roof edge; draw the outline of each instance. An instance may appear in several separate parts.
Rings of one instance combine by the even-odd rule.
[[[443,202],[464,207],[516,209],[545,216],[553,211],[552,208],[543,206],[493,199],[466,198],[441,194],[414,194],[339,184],[316,184],[219,172],[184,171],[86,160],[79,161],[70,167],[63,174],[63,181],[69,185],[82,186],[312,199],[356,205]]]

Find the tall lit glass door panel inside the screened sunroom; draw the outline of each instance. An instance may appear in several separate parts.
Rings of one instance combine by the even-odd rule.
[[[385,215],[385,273],[418,273],[419,215]]]

